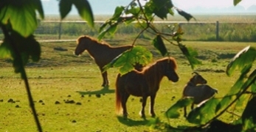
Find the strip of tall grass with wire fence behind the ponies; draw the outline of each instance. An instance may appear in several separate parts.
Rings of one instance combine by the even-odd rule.
[[[38,29],[34,34],[35,38],[41,42],[75,41],[77,37],[84,34],[97,36],[98,29],[104,22],[94,21],[94,28],[91,28],[85,21],[39,21]],[[256,22],[155,21],[154,25],[160,32],[170,33],[168,27],[177,23],[184,30],[184,40],[256,42]],[[115,34],[138,34],[141,29],[135,26],[136,23],[120,24]],[[147,34],[144,37],[147,37]],[[0,31],[0,39],[3,38]]]

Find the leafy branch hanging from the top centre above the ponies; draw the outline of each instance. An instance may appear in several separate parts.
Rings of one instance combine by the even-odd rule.
[[[160,54],[162,54],[162,56],[170,56],[165,46],[165,41],[167,41],[170,44],[179,46],[184,56],[187,56],[191,67],[194,68],[195,65],[201,64],[201,62],[199,62],[195,58],[195,56],[197,55],[196,51],[193,51],[192,48],[187,48],[185,45],[180,43],[182,40],[181,36],[183,34],[181,27],[179,25],[178,28],[176,28],[176,26],[172,26],[170,32],[166,33],[160,32],[159,29],[154,26],[153,21],[155,17],[165,20],[167,19],[167,15],[174,15],[174,10],[179,12],[179,15],[182,15],[184,18],[186,18],[187,21],[190,21],[190,19],[193,18],[193,16],[189,13],[184,12],[177,7],[174,7],[172,1],[170,0],[150,0],[143,2],[140,0],[133,0],[126,7],[116,7],[114,15],[112,15],[110,19],[105,21],[105,23],[100,26],[100,34],[98,36],[98,39],[102,39],[106,34],[113,35],[117,31],[118,25],[121,23],[135,23],[135,25],[142,30],[141,32],[139,32],[139,34],[137,34],[137,37],[135,38],[132,45],[135,45],[136,39],[138,39],[141,34],[143,34],[144,32],[148,32],[155,36],[152,40],[152,44],[160,52]],[[174,31],[175,29],[176,31]],[[175,40],[176,43],[171,42],[170,39]],[[133,57],[135,56],[129,57],[130,59],[134,59]],[[124,67],[129,68],[125,68],[126,71],[122,69],[123,71],[120,71],[121,73],[127,73],[128,71],[133,69],[133,67],[131,67],[131,65],[129,65],[128,63],[123,62],[122,64],[125,65]]]

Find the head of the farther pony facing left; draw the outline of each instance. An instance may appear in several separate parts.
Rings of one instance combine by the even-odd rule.
[[[79,56],[87,49],[86,43],[90,43],[91,38],[87,36],[81,36],[77,38],[77,47],[75,48],[75,55]]]

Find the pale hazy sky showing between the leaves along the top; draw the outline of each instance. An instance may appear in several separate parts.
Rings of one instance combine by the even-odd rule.
[[[59,14],[58,0],[41,0],[44,7],[45,14]],[[114,9],[117,6],[126,6],[131,0],[88,0],[91,5],[94,14],[113,14]],[[142,0],[144,1],[144,0]],[[233,0],[172,0],[175,7],[181,10],[197,9],[197,7],[203,8],[227,8],[235,7]],[[256,0],[242,0],[238,6],[244,7],[244,9],[256,5]],[[238,6],[235,7],[238,8]],[[196,10],[197,11],[197,10]],[[201,10],[199,10],[200,12]],[[77,10],[72,7],[72,12],[69,14],[77,15]]]

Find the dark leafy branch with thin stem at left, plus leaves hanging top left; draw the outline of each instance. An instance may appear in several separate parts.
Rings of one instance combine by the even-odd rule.
[[[73,0],[72,2],[60,0],[60,17],[62,19],[66,17],[72,4],[75,4],[80,16],[88,21],[90,26],[94,26],[91,7],[86,0]],[[41,47],[32,35],[38,26],[36,11],[44,19],[44,10],[40,0],[1,0],[0,28],[4,33],[4,40],[0,45],[0,58],[11,58],[15,73],[21,73],[35,123],[38,131],[42,131],[25,70],[29,59],[38,62],[41,56]]]

